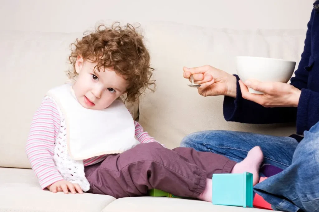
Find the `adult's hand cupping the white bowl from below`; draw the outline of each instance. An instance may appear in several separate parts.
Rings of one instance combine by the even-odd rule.
[[[301,91],[281,82],[263,83],[257,80],[247,80],[244,83],[239,80],[241,94],[244,99],[254,101],[264,107],[297,107]],[[265,94],[252,94],[248,92],[250,87]]]

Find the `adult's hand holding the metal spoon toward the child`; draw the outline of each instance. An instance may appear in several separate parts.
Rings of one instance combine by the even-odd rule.
[[[195,68],[183,67],[183,77],[190,78],[194,83],[201,85],[198,93],[202,96],[230,96],[236,98],[236,77],[210,65]],[[189,79],[189,81],[191,81]]]

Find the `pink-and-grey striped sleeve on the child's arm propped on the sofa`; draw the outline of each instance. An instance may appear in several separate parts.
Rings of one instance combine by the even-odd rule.
[[[46,97],[33,115],[26,142],[27,157],[42,189],[63,180],[53,161],[59,127],[60,114],[56,103]]]

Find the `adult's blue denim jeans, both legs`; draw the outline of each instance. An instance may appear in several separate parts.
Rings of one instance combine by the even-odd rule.
[[[258,183],[254,191],[274,210],[319,211],[319,122],[304,132],[300,143],[290,137],[233,131],[192,133],[181,143],[181,147],[222,154],[236,162],[255,146],[261,147],[264,163],[284,171]]]

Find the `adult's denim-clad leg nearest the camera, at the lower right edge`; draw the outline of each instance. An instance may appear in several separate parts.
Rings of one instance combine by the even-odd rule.
[[[254,190],[274,209],[295,212],[319,211],[319,122],[304,132],[292,164],[258,183]]]

